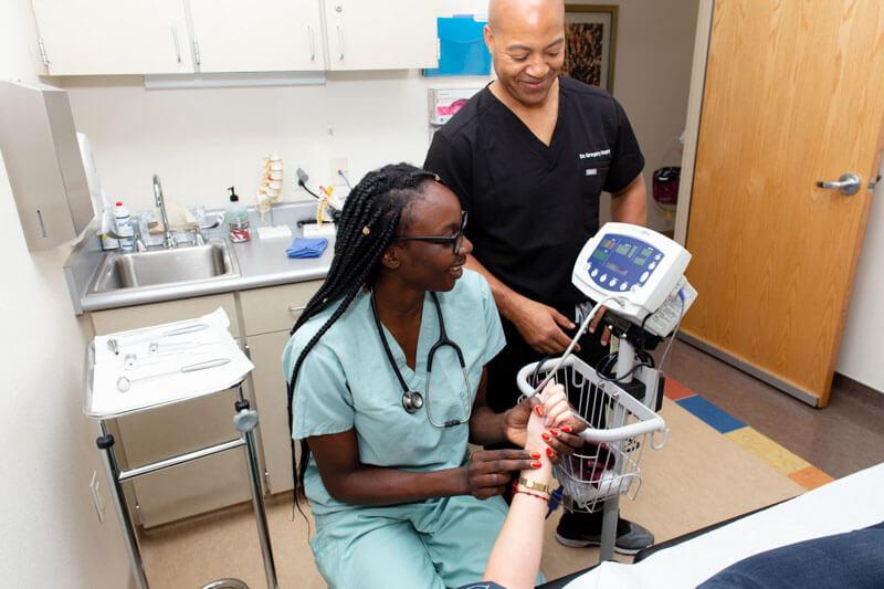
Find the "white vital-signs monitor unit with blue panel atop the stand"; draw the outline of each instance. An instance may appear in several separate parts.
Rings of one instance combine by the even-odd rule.
[[[691,254],[650,229],[606,223],[580,251],[571,281],[580,292],[665,337],[696,298],[684,277]],[[613,299],[613,301],[610,301]]]

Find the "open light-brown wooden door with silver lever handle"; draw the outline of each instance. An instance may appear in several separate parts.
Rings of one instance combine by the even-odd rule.
[[[684,332],[819,407],[884,122],[880,0],[717,0],[697,141]],[[853,196],[817,187],[852,171]]]

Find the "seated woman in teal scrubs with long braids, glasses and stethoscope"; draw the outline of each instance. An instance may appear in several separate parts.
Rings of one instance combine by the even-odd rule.
[[[484,367],[504,337],[488,284],[463,267],[465,221],[432,173],[401,164],[367,175],[283,354],[302,441],[297,491],[311,502],[311,545],[332,587],[481,578],[506,515],[499,495],[512,473],[541,465],[536,451],[467,450],[524,446],[530,407],[497,414],[485,404]],[[443,326],[463,366],[442,346],[430,370]],[[568,432],[548,431],[549,455],[580,446]]]

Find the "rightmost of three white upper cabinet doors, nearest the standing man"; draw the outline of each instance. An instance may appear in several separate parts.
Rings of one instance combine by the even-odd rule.
[[[435,2],[325,0],[329,70],[435,67]]]

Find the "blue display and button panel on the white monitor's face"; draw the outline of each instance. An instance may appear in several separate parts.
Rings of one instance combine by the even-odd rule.
[[[606,291],[622,292],[648,282],[661,260],[663,253],[653,245],[609,233],[589,255],[587,272]]]

